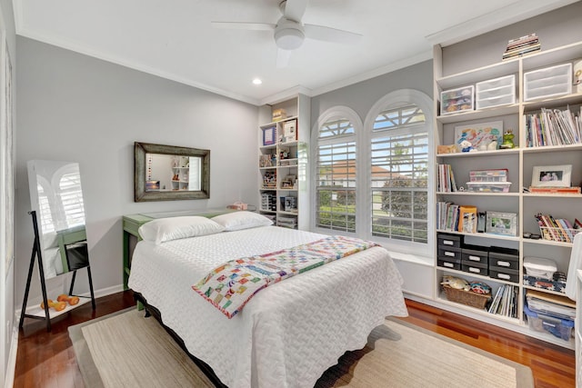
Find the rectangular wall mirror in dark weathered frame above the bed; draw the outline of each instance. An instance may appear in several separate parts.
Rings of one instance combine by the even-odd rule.
[[[135,202],[210,198],[210,150],[135,142]]]

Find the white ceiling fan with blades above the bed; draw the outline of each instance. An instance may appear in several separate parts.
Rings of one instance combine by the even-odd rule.
[[[356,44],[362,35],[324,25],[304,25],[301,18],[306,12],[307,0],[283,0],[279,9],[283,14],[276,24],[247,22],[211,22],[216,28],[274,31],[277,46],[277,67],[285,67],[291,52],[299,48],[305,38],[320,41]]]

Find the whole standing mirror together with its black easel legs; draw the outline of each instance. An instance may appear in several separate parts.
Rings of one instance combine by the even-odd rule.
[[[95,294],[89,264],[85,232],[85,204],[81,188],[79,164],[32,160],[28,162],[28,185],[32,211],[35,241],[26,279],[25,299],[22,304],[19,328],[25,318],[44,319],[46,331],[51,331],[51,312],[65,313],[67,303],[75,307],[80,297],[73,293],[76,271],[86,268],[89,280],[91,304],[95,310]],[[34,271],[38,263],[43,302],[43,313],[26,313],[28,293]],[[71,286],[68,294],[60,294],[56,301],[47,297],[45,280],[59,274],[71,272]],[[87,299],[86,297],[84,297]],[[88,299],[87,299],[88,301]]]

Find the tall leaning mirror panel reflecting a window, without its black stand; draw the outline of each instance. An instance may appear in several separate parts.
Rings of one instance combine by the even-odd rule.
[[[89,265],[79,164],[31,160],[28,184],[45,279]]]

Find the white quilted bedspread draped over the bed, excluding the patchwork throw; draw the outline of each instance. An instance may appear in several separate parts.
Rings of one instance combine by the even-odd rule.
[[[325,237],[276,226],[135,247],[129,286],[156,306],[188,351],[238,387],[313,387],[387,315],[406,316],[395,264],[381,247],[273,284],[228,319],[192,290],[216,265]]]

